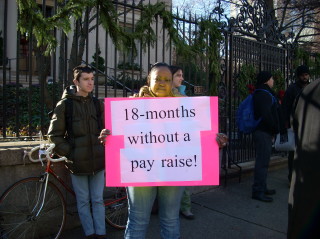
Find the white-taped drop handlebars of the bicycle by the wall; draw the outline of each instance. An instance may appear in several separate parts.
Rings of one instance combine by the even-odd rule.
[[[61,161],[65,161],[67,163],[72,163],[72,161],[68,160],[66,157],[60,157],[60,158],[52,158],[52,150],[55,147],[55,144],[41,144],[39,146],[33,147],[29,152],[28,151],[24,151],[24,156],[23,157],[28,157],[29,160],[31,162],[42,162],[42,160],[49,160],[53,163],[57,163],[57,162],[61,162]],[[42,149],[44,148],[44,149]],[[38,159],[34,159],[32,158],[32,153],[35,152],[36,150],[39,150],[39,158]],[[42,158],[41,156],[45,155],[44,158]]]

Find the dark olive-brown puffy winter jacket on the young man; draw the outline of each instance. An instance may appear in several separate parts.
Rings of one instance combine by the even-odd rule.
[[[101,130],[98,127],[99,119],[92,96],[76,96],[75,92],[75,86],[70,86],[64,91],[54,109],[48,137],[50,142],[56,144],[54,151],[58,155],[66,156],[73,161],[72,164],[66,163],[71,173],[93,175],[104,169],[104,147],[98,140]],[[71,138],[66,136],[65,98],[73,99]]]

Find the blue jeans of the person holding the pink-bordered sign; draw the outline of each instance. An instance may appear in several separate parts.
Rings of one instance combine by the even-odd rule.
[[[161,238],[180,238],[180,201],[185,187],[128,187],[129,219],[126,239],[143,239],[153,202],[158,197]]]

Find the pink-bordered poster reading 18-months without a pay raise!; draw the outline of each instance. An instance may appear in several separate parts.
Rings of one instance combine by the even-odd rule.
[[[107,186],[219,184],[217,97],[106,98]]]

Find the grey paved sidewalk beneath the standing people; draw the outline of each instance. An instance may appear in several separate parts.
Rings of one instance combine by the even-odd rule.
[[[192,195],[194,220],[181,218],[182,239],[286,239],[288,211],[287,168],[269,172],[268,187],[276,189],[272,203],[251,199],[252,174],[228,179],[220,186]],[[223,185],[223,182],[221,182]],[[122,239],[123,231],[107,228],[108,239]],[[151,216],[146,239],[160,239],[159,220]],[[65,231],[62,239],[84,239],[81,228]]]

